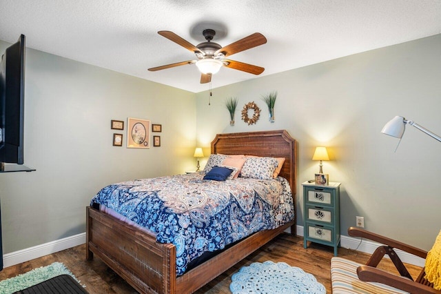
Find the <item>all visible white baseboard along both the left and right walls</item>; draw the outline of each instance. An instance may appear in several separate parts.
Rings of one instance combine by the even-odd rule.
[[[297,235],[303,237],[303,226],[296,226]],[[287,229],[289,233],[289,228]],[[38,246],[25,248],[21,251],[15,251],[3,255],[3,267],[14,266],[21,264],[22,262],[28,262],[29,260],[63,251],[74,246],[85,244],[85,233],[78,235],[65,237],[63,239],[55,240],[49,243],[41,244]],[[340,246],[347,249],[353,249],[364,253],[372,254],[380,244],[371,242],[369,240],[361,240],[358,238],[341,236]],[[400,255],[402,262],[407,264],[414,264],[416,266],[424,266],[424,259],[411,255],[410,253],[403,251],[396,251]]]

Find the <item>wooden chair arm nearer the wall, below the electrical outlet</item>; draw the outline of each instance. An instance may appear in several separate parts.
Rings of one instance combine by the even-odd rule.
[[[384,237],[382,235],[378,235],[376,233],[372,233],[369,231],[366,231],[362,228],[357,228],[354,226],[351,226],[348,230],[347,230],[349,236],[351,237],[362,237],[362,238],[366,238],[366,239],[370,239],[374,242],[378,242],[387,246],[391,246],[393,248],[397,248],[400,249],[401,251],[406,251],[407,253],[411,253],[413,255],[422,257],[422,258],[426,258],[427,257],[427,251],[424,251],[420,248],[416,248],[407,244],[404,244],[400,241],[396,241],[394,239],[390,239],[388,237]]]

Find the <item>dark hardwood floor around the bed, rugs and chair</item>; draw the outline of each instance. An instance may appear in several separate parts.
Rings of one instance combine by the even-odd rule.
[[[345,248],[338,248],[338,255],[360,263],[365,263],[369,259],[369,255],[365,253]],[[313,274],[318,282],[325,285],[327,292],[331,293],[330,260],[333,256],[333,248],[331,247],[311,244],[305,249],[303,248],[302,237],[294,237],[283,233],[236,264],[236,266],[225,271],[225,273],[196,293],[231,293],[229,291],[231,277],[240,267],[247,266],[252,262],[265,262],[267,260],[286,262],[291,266],[302,268],[305,272]],[[26,273],[32,270],[32,268],[47,266],[52,264],[52,262],[63,262],[77,279],[81,281],[81,284],[86,285],[85,289],[90,294],[137,293],[121,277],[108,268],[99,257],[95,257],[92,261],[85,260],[84,244],[33,259],[30,262],[23,262],[23,264],[4,268],[0,272],[0,280]],[[393,265],[389,260],[382,261],[379,267],[396,273],[396,271],[393,271]],[[413,277],[416,277],[420,271],[421,268],[418,266],[409,266],[409,272]]]

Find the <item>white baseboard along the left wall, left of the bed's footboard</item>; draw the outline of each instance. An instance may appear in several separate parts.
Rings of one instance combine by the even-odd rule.
[[[25,248],[20,251],[7,253],[3,255],[3,267],[14,266],[22,262],[63,251],[74,246],[85,244],[85,233],[65,237],[63,239],[55,240],[38,246]]]

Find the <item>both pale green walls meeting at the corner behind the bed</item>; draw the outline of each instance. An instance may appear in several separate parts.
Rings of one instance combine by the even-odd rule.
[[[9,45],[0,41],[0,51]],[[298,140],[299,183],[318,171],[314,147],[329,147],[324,170],[342,182],[342,231],[361,215],[369,230],[429,249],[441,223],[441,145],[408,128],[393,153],[398,139],[380,130],[402,115],[441,134],[440,52],[441,35],[402,43],[214,88],[209,106],[207,92],[195,95],[28,48],[25,164],[37,171],[0,174],[3,253],[83,233],[85,206],[106,184],[194,169],[195,142],[209,154],[216,133],[275,129]],[[278,91],[274,124],[260,99],[272,90]],[[229,126],[227,97],[239,99],[235,126]],[[249,101],[262,110],[252,126],[240,120]],[[118,132],[110,120],[127,117],[162,124],[161,147],[113,147]],[[296,190],[301,225],[300,184]]]

